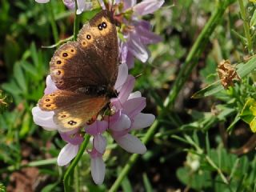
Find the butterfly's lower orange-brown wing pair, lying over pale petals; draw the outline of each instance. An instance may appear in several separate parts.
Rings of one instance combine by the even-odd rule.
[[[106,97],[93,97],[57,90],[46,94],[39,102],[42,110],[54,110],[54,122],[62,132],[82,127],[106,106]]]

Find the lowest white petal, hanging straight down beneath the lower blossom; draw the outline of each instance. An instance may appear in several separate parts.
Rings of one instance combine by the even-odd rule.
[[[91,176],[97,185],[102,184],[105,178],[106,166],[102,157],[90,158]]]

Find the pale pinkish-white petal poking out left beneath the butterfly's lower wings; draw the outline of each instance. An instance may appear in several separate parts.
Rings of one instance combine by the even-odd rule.
[[[38,126],[42,126],[45,130],[58,130],[58,126],[54,123],[54,111],[43,111],[35,106],[32,115],[34,123]]]

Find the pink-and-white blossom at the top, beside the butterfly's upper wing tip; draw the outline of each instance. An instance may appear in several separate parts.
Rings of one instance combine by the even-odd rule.
[[[106,6],[103,0],[99,1],[102,9],[111,7],[112,1],[109,0],[109,6]],[[162,38],[158,34],[151,31],[150,22],[146,22],[140,16],[153,14],[164,3],[164,0],[144,0],[137,4],[136,0],[114,1],[114,5],[120,5],[116,9],[114,18],[125,25],[123,30],[124,41],[121,43],[120,50],[122,51],[122,61],[125,61],[130,68],[134,67],[134,57],[141,62],[146,62],[150,57],[150,51],[147,49],[148,44],[161,42]],[[122,14],[129,17],[121,17]]]

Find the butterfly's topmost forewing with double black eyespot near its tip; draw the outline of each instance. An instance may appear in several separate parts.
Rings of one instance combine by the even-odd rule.
[[[88,34],[92,35],[94,41],[92,45],[96,52],[101,54],[102,62],[95,62],[97,69],[101,71],[103,76],[108,79],[111,86],[117,78],[118,72],[118,36],[113,19],[107,10],[102,10],[89,23],[82,27],[78,34],[78,42],[86,45],[91,45],[88,41]],[[88,50],[83,49],[85,52]]]

